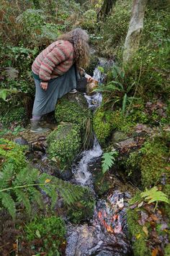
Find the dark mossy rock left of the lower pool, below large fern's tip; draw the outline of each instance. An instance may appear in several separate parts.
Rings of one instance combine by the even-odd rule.
[[[82,221],[90,220],[94,213],[94,196],[89,189],[86,189],[86,193],[81,199],[70,205],[67,210],[67,216],[73,223],[81,223]]]

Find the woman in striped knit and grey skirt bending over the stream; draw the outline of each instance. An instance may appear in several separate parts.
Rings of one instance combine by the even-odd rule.
[[[81,28],[60,35],[35,59],[32,73],[35,80],[35,101],[32,110],[31,132],[47,132],[40,127],[44,114],[55,110],[58,98],[66,93],[76,93],[76,82],[81,76],[87,82],[91,76],[84,68],[89,64],[89,36]]]

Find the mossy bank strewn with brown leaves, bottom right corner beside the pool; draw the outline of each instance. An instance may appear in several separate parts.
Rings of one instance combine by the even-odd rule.
[[[150,190],[147,195],[151,195],[153,200],[161,201],[163,198],[160,196],[161,191],[156,192],[151,194]],[[144,196],[145,193],[141,194]],[[164,197],[168,202],[166,195]],[[164,205],[159,202],[156,207],[153,202],[145,201],[140,195],[136,195],[128,210],[128,228],[132,237],[134,254],[138,256],[168,255],[166,250],[169,244],[169,221],[164,212]]]

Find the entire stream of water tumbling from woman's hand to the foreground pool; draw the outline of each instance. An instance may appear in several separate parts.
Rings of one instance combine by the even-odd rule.
[[[108,64],[108,63],[106,63]],[[109,64],[108,64],[109,65]],[[100,64],[101,66],[101,64]],[[104,75],[94,70],[94,79],[102,82]],[[95,110],[102,102],[102,94],[85,95],[89,108]],[[73,182],[93,190],[93,179],[89,165],[102,155],[102,148],[94,136],[91,150],[81,153],[81,161],[73,166]],[[94,190],[93,190],[94,192]],[[124,256],[133,255],[127,238],[126,207],[128,193],[112,191],[104,199],[97,200],[91,224],[68,224],[66,256]]]

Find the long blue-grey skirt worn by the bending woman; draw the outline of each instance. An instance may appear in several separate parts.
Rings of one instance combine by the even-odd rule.
[[[35,79],[35,101],[32,109],[33,116],[42,116],[55,110],[58,98],[76,88],[79,73],[73,65],[68,72],[61,77],[54,78],[48,82],[48,89],[40,87],[40,81]]]

